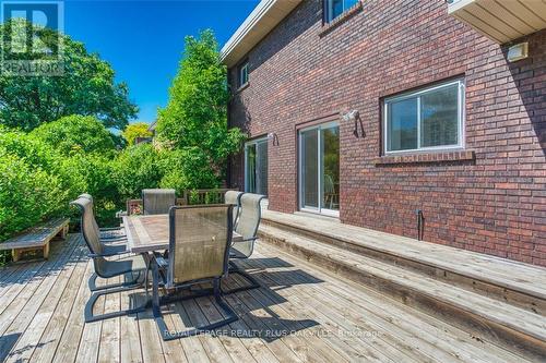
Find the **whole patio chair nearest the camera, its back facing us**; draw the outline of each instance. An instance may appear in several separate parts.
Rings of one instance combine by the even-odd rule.
[[[214,204],[173,207],[169,213],[168,258],[154,256],[153,312],[164,340],[193,336],[216,329],[238,319],[221,297],[221,279],[228,271],[229,245],[233,233],[233,205]],[[190,290],[190,294],[176,294],[180,289],[212,282],[212,289]],[[169,292],[159,297],[159,287]],[[170,335],[161,306],[175,301],[213,294],[225,318],[205,326],[193,327]]]

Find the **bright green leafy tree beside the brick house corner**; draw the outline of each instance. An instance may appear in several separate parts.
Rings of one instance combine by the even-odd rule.
[[[227,157],[239,150],[245,134],[227,128],[227,69],[217,48],[210,29],[199,38],[186,37],[185,56],[169,89],[167,107],[159,110],[156,131],[161,142],[186,149],[187,155],[195,155],[198,148],[207,167],[222,178]],[[194,162],[203,157],[191,159]]]

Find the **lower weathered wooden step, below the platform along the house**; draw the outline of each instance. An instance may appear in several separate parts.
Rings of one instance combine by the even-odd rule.
[[[546,356],[545,316],[269,223],[259,233],[263,242],[456,325],[477,340],[536,361]]]

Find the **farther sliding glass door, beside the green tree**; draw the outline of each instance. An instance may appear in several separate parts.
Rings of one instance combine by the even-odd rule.
[[[245,145],[245,192],[268,195],[268,138]]]

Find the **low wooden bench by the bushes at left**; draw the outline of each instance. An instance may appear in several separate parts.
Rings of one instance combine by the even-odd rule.
[[[11,250],[13,262],[20,261],[21,253],[35,250],[43,250],[44,258],[47,259],[49,257],[49,242],[56,235],[66,239],[68,228],[68,218],[51,219],[0,243],[0,250]]]

